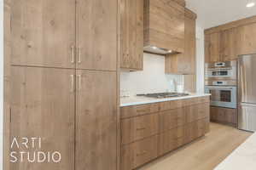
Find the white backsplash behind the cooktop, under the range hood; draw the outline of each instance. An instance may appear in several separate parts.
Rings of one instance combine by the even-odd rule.
[[[165,73],[165,56],[144,54],[143,71],[121,71],[121,95],[174,91],[174,84],[183,85],[182,75]]]

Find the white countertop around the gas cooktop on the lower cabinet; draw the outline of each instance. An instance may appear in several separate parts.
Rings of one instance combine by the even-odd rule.
[[[204,97],[204,96],[210,96],[210,95],[211,94],[189,94],[188,96],[164,98],[164,99],[155,99],[155,98],[148,98],[143,96],[122,97],[120,98],[120,106],[125,107],[125,106],[131,106],[131,105],[152,104],[152,103],[172,101],[177,99],[191,99],[191,98]]]

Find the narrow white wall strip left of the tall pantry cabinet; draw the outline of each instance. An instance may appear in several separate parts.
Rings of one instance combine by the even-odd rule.
[[[3,170],[3,0],[0,8],[0,170]]]

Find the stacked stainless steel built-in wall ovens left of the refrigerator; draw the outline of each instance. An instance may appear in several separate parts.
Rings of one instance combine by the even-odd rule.
[[[212,106],[237,108],[236,66],[236,60],[206,64],[206,93],[212,94]]]

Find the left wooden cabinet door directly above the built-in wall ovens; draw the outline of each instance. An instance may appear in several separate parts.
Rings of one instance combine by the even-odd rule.
[[[219,59],[219,38],[220,33],[215,32],[205,36],[206,62],[218,62]]]

